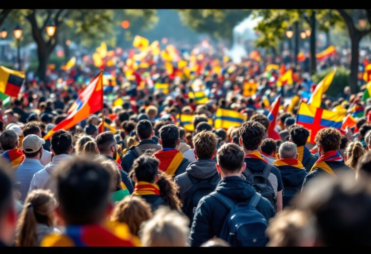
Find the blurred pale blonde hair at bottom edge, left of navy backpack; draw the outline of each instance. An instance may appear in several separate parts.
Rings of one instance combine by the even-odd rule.
[[[180,212],[160,207],[152,219],[142,224],[140,240],[146,247],[188,246],[189,219]]]

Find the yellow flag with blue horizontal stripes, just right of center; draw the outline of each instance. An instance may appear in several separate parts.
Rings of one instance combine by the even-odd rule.
[[[234,110],[217,109],[214,119],[215,129],[228,129],[231,126],[240,126],[243,121],[247,120],[247,115],[241,114]]]

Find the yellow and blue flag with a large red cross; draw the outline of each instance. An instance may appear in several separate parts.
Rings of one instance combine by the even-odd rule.
[[[301,102],[296,116],[296,123],[301,124],[310,132],[308,142],[315,143],[314,137],[320,129],[333,127],[340,129],[345,113],[333,112]]]

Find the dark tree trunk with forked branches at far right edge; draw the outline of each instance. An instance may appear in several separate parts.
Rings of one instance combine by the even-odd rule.
[[[340,15],[343,17],[344,22],[347,24],[348,32],[350,36],[350,43],[351,43],[351,61],[350,61],[350,78],[349,78],[349,86],[352,93],[358,91],[357,86],[357,79],[358,79],[358,65],[359,65],[359,43],[361,39],[371,32],[371,27],[367,29],[359,29],[360,25],[353,23],[355,19],[356,11],[348,11],[344,9],[337,9]],[[367,20],[371,24],[371,9],[364,10],[366,15],[362,12],[358,12],[358,14],[363,14],[366,16]],[[358,21],[358,19],[355,19]],[[366,28],[366,27],[365,27]]]

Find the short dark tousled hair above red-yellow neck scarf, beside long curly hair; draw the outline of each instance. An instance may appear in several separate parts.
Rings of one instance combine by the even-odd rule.
[[[159,173],[160,161],[147,154],[139,156],[133,163],[133,171],[137,181],[153,183]]]

